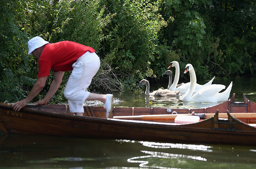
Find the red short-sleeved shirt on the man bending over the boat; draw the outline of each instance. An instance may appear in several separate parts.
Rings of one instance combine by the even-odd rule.
[[[46,44],[38,60],[37,78],[49,76],[50,69],[54,72],[73,70],[72,64],[87,51],[95,52],[89,46],[71,41]]]

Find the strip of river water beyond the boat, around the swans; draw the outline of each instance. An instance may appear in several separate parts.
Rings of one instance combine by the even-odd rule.
[[[243,94],[248,99],[256,102],[256,76],[253,77],[240,77],[232,80],[214,80],[213,84],[224,84],[226,87],[233,82],[233,86],[230,93],[230,98],[235,93],[235,101],[243,101]],[[200,81],[199,84],[205,84],[207,81]],[[139,82],[138,82],[139,85]],[[161,82],[160,84],[154,82],[150,84],[150,92],[157,90],[160,87],[167,88],[168,83]],[[144,92],[146,86],[141,87],[143,93],[133,92],[119,92],[114,93],[113,106],[116,107],[178,107],[178,108],[199,108],[214,106],[219,103],[195,103],[195,102],[183,102],[181,98],[176,97],[157,97],[157,96],[145,96]],[[225,90],[225,89],[224,89]],[[223,90],[223,91],[224,91]],[[222,91],[221,91],[222,92]],[[101,102],[86,101],[87,106],[103,106]]]

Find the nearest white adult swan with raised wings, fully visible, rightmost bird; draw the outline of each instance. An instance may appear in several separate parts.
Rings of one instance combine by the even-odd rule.
[[[230,85],[224,92],[219,93],[222,89],[225,89],[225,85],[223,84],[211,84],[199,89],[193,96],[193,91],[195,90],[196,85],[196,73],[191,64],[187,64],[185,67],[184,74],[189,71],[190,75],[190,85],[188,91],[183,96],[183,101],[186,102],[223,102],[227,101],[229,98],[232,84]]]

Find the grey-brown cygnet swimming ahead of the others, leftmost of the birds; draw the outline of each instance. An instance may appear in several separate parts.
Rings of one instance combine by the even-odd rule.
[[[158,89],[158,90],[153,91],[152,93],[149,93],[150,85],[146,79],[142,79],[140,81],[139,87],[141,87],[144,84],[146,85],[146,91],[145,91],[146,96],[149,96],[149,95],[152,95],[152,96],[178,96],[178,97],[180,96],[180,94],[179,94],[180,91],[173,92],[168,89]]]

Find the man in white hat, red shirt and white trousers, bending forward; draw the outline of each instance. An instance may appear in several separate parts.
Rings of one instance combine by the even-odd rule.
[[[112,110],[113,95],[85,91],[100,67],[99,57],[93,48],[71,41],[49,43],[39,36],[28,41],[28,48],[28,55],[33,55],[38,60],[37,82],[25,99],[13,104],[14,111],[19,111],[40,93],[50,69],[53,69],[54,80],[47,94],[35,106],[47,104],[59,88],[65,71],[72,71],[64,90],[70,112],[83,116],[85,100],[99,100],[104,103],[108,118]]]

